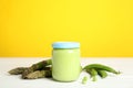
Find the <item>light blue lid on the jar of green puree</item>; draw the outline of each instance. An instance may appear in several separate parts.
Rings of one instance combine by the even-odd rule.
[[[54,42],[52,44],[53,48],[79,48],[80,43],[78,42]]]

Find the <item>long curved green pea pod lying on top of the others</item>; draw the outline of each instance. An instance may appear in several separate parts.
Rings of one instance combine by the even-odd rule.
[[[105,66],[105,65],[101,65],[101,64],[91,64],[91,65],[85,66],[83,69],[90,69],[90,68],[106,70],[113,74],[120,74],[120,72],[116,72],[115,69],[109,66]]]

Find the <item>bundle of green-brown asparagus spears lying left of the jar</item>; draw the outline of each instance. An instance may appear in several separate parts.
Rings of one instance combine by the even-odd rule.
[[[51,59],[42,61],[33,64],[30,67],[17,67],[9,70],[11,75],[22,75],[23,79],[37,79],[44,77],[52,77],[51,75]]]

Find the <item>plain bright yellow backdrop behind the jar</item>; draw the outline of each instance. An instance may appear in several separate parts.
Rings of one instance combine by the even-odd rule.
[[[51,56],[55,41],[82,56],[133,56],[133,0],[0,0],[0,56]]]

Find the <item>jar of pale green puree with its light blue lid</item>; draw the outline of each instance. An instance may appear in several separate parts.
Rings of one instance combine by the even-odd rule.
[[[55,42],[52,47],[53,79],[59,81],[76,80],[81,73],[80,43]]]

